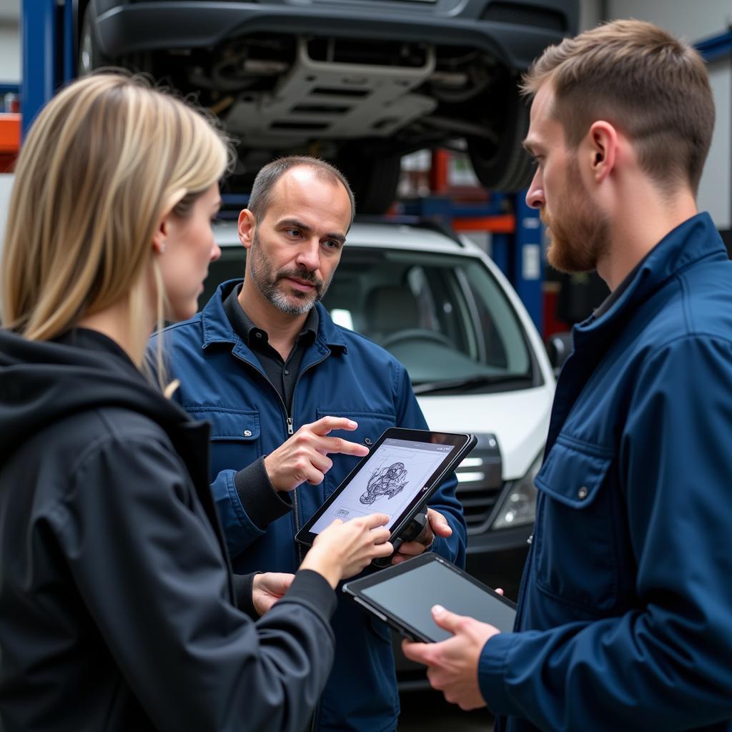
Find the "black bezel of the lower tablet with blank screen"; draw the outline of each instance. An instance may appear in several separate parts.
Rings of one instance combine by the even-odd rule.
[[[447,567],[447,569],[450,569],[456,574],[460,575],[460,577],[462,577],[464,580],[467,580],[471,584],[474,584],[478,589],[481,589],[494,599],[499,600],[512,610],[517,609],[515,602],[512,602],[511,600],[508,600],[507,597],[498,594],[498,592],[496,592],[495,590],[490,589],[490,587],[484,585],[476,578],[468,575],[467,572],[463,572],[463,569],[460,569],[460,567],[456,567],[455,564],[452,564],[452,562],[447,561],[447,559],[443,559],[441,556],[438,556],[433,552],[425,552],[424,554],[420,554],[419,556],[414,557],[414,559],[409,559],[408,561],[403,561],[400,564],[394,564],[392,565],[392,567],[381,569],[380,572],[374,572],[372,575],[367,575],[366,577],[362,577],[357,580],[351,580],[351,582],[347,582],[345,585],[343,585],[343,592],[345,592],[346,595],[351,598],[351,600],[354,600],[354,602],[357,602],[359,605],[361,605],[362,608],[368,610],[368,612],[370,613],[373,613],[373,615],[375,615],[378,619],[384,621],[386,624],[389,625],[389,627],[394,628],[394,630],[396,630],[406,638],[409,638],[411,641],[418,641],[420,643],[435,643],[436,641],[433,641],[432,638],[427,638],[427,636],[424,635],[422,632],[419,632],[417,628],[412,627],[410,624],[408,624],[408,622],[404,621],[398,616],[395,616],[394,613],[389,611],[387,608],[384,608],[382,605],[379,605],[378,602],[372,600],[370,597],[366,597],[366,595],[363,594],[363,590],[365,589],[373,587],[374,585],[378,585],[386,580],[391,580],[395,577],[399,577],[400,575],[406,574],[406,572],[411,572],[412,569],[418,569],[419,567],[422,567],[422,565],[429,564],[430,562],[434,561],[438,562],[439,564],[443,564],[445,567]]]

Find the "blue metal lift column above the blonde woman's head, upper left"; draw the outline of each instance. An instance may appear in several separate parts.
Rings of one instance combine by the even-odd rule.
[[[56,88],[56,2],[23,0],[23,136]]]

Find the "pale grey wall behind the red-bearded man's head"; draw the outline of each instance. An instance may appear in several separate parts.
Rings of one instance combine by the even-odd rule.
[[[725,33],[732,26],[729,0],[608,0],[610,18],[640,18],[690,42]],[[709,64],[717,124],[699,186],[699,207],[709,211],[722,231],[732,228],[732,59]]]

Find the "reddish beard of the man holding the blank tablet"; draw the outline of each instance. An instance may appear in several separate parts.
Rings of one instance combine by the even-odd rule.
[[[555,198],[559,203],[554,213],[546,209],[540,213],[550,229],[547,261],[560,272],[597,269],[597,261],[608,248],[610,223],[583,187],[576,159],[567,167],[564,190]]]

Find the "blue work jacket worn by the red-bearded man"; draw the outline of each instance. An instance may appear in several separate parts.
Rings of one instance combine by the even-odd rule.
[[[479,660],[496,730],[732,730],[732,262],[709,215],[573,335],[517,632]]]

